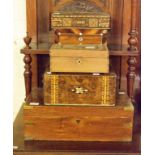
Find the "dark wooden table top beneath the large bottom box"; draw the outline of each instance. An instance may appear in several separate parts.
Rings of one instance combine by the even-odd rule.
[[[140,114],[135,113],[132,142],[47,142],[24,141],[22,108],[14,121],[14,155],[140,155]],[[43,153],[44,152],[44,153]],[[123,153],[123,154],[122,154]]]

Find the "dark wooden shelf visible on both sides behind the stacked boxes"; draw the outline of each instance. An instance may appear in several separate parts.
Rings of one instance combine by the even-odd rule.
[[[31,47],[32,47],[31,49],[23,48],[21,50],[21,53],[31,54],[31,55],[44,55],[44,54],[46,55],[46,54],[49,54],[51,44],[49,43],[42,43],[39,45],[32,44]],[[140,55],[139,51],[134,51],[134,52],[128,51],[126,46],[122,48],[110,46],[109,50],[110,50],[110,56],[139,56]]]

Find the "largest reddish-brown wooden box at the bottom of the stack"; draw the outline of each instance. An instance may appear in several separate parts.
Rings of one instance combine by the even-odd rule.
[[[24,106],[25,140],[132,141],[134,107]]]

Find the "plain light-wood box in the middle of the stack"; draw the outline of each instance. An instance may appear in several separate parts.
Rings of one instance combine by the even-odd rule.
[[[57,45],[50,50],[51,72],[109,73],[107,45]]]

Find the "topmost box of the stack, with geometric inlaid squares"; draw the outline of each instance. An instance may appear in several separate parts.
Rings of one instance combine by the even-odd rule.
[[[107,13],[66,13],[51,14],[51,28],[99,28],[110,29],[110,15]]]

